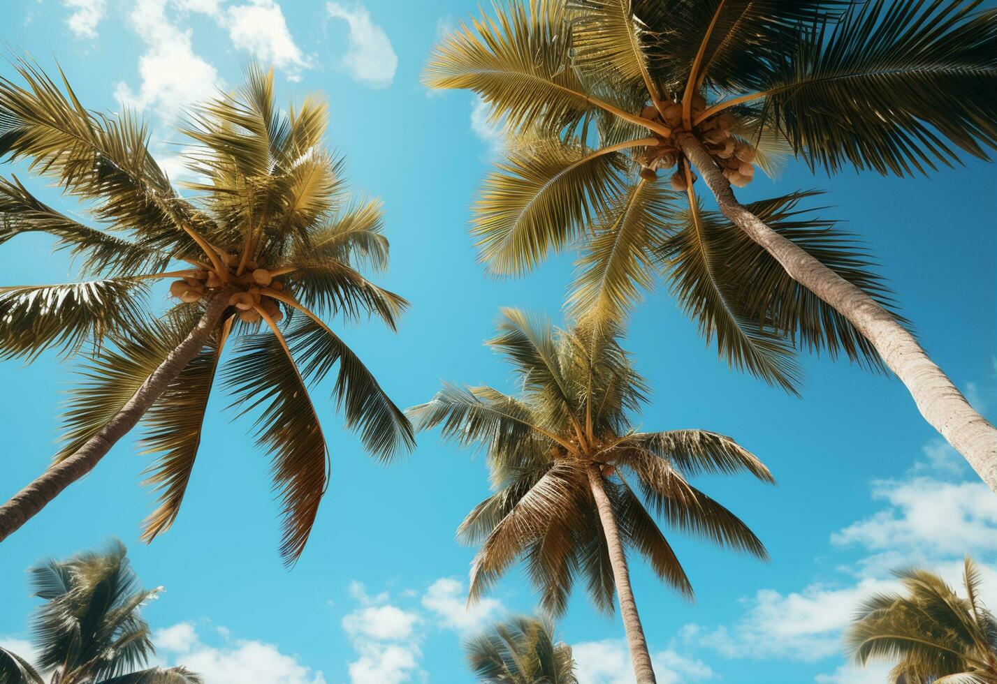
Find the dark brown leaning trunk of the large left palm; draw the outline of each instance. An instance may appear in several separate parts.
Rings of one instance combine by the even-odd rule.
[[[228,306],[228,295],[216,295],[193,330],[169,352],[163,363],[146,378],[139,390],[108,424],[91,437],[76,453],[53,465],[10,501],[0,506],[0,542],[16,532],[45,508],[60,492],[94,469],[111,447],[135,427],[139,419],[166,391],[169,383],[197,355],[217,327]]]

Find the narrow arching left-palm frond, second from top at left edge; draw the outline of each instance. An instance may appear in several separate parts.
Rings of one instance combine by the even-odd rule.
[[[0,178],[0,244],[26,233],[57,238],[56,249],[82,257],[85,272],[109,275],[156,273],[168,254],[109,235],[59,213],[32,195],[16,177]]]

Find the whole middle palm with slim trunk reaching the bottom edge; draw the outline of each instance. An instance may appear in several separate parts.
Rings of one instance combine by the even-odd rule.
[[[647,400],[648,386],[616,332],[605,330],[554,331],[549,321],[503,310],[498,337],[488,343],[512,364],[520,396],[446,385],[409,411],[417,429],[442,425],[445,438],[488,453],[496,493],[458,530],[463,541],[482,543],[470,600],[521,557],[541,605],[556,616],[580,573],[602,610],[612,611],[615,589],[637,681],[653,682],[626,548],[683,595],[691,596],[692,586],[630,482],[678,529],[765,559],[751,530],[686,477],[744,470],[774,480],[730,437],[703,430],[638,432],[632,414]]]

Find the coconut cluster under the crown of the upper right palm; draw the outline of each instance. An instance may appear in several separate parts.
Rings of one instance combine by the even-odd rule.
[[[702,96],[694,95],[690,106],[692,118],[696,118],[706,111],[706,100]],[[673,130],[682,127],[682,104],[670,103],[664,107],[664,113],[658,112],[653,106],[644,108],[641,113],[644,118],[661,121]],[[700,121],[693,127],[693,134],[702,141],[703,146],[710,152],[713,160],[724,177],[732,185],[744,187],[755,177],[755,161],[757,152],[755,147],[747,142],[737,140],[731,135],[731,130],[737,123],[737,119],[731,114],[722,113],[710,116]],[[672,174],[672,188],[680,192],[687,189],[685,170],[679,164],[682,153],[678,147],[672,144],[670,137],[660,137],[660,144],[648,147],[637,157],[640,163],[640,177],[647,180],[654,180],[658,177],[659,168],[672,168],[678,166]],[[693,182],[696,175],[690,173]]]

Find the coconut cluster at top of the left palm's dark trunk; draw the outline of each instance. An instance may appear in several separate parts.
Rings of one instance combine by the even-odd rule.
[[[235,307],[239,312],[239,320],[243,323],[259,323],[262,319],[256,307],[263,310],[271,321],[277,323],[284,318],[276,300],[268,297],[263,288],[281,292],[284,284],[265,268],[260,268],[255,262],[246,264],[246,271],[241,276],[236,276],[233,267],[238,264],[238,257],[233,254],[222,253],[221,262],[229,269],[231,278],[229,285],[241,288],[228,298],[228,306]],[[224,285],[221,278],[214,271],[197,269],[190,271],[189,276],[182,280],[173,281],[169,284],[169,294],[180,302],[193,304],[205,299],[213,291]]]

